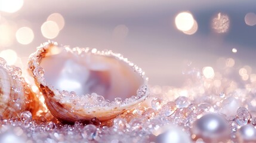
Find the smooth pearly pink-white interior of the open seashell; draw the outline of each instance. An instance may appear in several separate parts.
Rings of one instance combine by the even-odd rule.
[[[110,101],[137,95],[144,82],[124,61],[88,52],[77,55],[61,50],[46,55],[40,66],[45,71],[45,80],[54,88],[77,95],[96,93]]]

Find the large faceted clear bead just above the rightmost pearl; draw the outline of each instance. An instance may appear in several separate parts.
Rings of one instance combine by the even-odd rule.
[[[239,107],[236,113],[236,122],[238,123],[238,125],[242,126],[251,122],[252,115],[251,113],[249,113],[247,108]]]

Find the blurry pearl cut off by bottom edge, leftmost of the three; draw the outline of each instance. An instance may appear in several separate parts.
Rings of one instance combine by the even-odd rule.
[[[158,130],[160,133],[156,136],[156,141],[159,143],[184,143],[192,142],[189,135],[184,132],[180,127],[177,126],[168,126]]]

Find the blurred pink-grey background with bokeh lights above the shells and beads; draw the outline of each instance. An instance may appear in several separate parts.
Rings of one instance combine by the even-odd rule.
[[[26,69],[48,39],[119,52],[150,85],[181,86],[191,69],[256,78],[256,1],[0,0],[0,57],[8,64]]]

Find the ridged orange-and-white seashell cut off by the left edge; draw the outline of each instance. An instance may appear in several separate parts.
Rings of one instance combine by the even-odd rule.
[[[19,116],[25,110],[35,114],[38,100],[21,77],[21,69],[7,66],[0,58],[0,114],[3,119]]]

